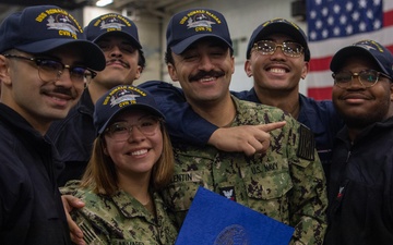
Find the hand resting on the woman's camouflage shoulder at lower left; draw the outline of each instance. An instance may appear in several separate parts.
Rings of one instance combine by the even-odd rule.
[[[78,245],[85,245],[82,230],[78,226],[78,224],[72,220],[70,216],[70,212],[72,211],[73,208],[83,208],[84,203],[81,199],[71,195],[62,195],[61,201],[63,204],[67,222],[70,228],[71,241]]]

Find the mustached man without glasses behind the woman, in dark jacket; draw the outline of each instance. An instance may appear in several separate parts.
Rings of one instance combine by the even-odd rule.
[[[96,137],[93,125],[94,105],[117,85],[131,85],[140,78],[145,58],[139,41],[136,25],[117,13],[100,15],[84,28],[86,38],[103,50],[106,68],[86,81],[80,101],[64,120],[53,123],[48,136],[53,140],[63,162],[58,180],[63,186],[69,180],[80,180],[92,154]]]

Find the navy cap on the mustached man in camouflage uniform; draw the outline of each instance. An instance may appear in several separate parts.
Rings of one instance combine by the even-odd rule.
[[[167,50],[176,54],[201,38],[217,38],[234,50],[228,25],[224,15],[215,10],[195,8],[175,14],[168,24],[166,38]]]

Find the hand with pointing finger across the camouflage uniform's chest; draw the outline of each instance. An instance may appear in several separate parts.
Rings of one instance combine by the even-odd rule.
[[[209,139],[209,144],[225,151],[243,151],[247,156],[265,154],[270,146],[269,132],[281,128],[285,121],[262,125],[221,127]]]

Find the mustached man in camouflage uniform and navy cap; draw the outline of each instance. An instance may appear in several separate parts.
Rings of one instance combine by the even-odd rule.
[[[196,8],[175,14],[165,60],[183,100],[217,127],[285,121],[270,132],[263,155],[219,150],[172,138],[175,174],[164,200],[182,223],[199,186],[295,228],[290,244],[322,244],[327,205],[324,174],[311,131],[278,108],[239,100],[229,93],[235,69],[225,17]]]

